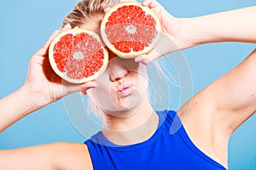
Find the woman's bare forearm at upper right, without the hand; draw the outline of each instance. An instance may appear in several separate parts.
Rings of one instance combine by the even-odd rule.
[[[185,48],[209,42],[256,42],[255,20],[256,6],[182,19],[177,39]]]

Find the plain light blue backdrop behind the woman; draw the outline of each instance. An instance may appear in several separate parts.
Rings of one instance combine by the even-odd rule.
[[[52,31],[61,26],[63,17],[77,2],[70,0],[0,2],[0,98],[20,88],[26,79],[28,60],[44,44]],[[160,3],[177,17],[193,17],[256,5],[255,0],[161,0]],[[189,62],[193,77],[193,93],[196,94],[207,84],[230,71],[250,54],[253,48],[255,44],[227,42],[184,50],[183,54]],[[230,169],[256,169],[255,130],[256,115],[232,135],[229,147]],[[69,122],[63,100],[26,116],[0,133],[0,149],[57,141],[79,143],[84,141],[83,135]]]

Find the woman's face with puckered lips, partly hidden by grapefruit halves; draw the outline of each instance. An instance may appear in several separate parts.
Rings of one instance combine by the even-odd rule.
[[[88,20],[84,27],[91,31],[100,32],[102,16]],[[99,35],[100,36],[100,35]],[[110,50],[106,71],[96,78],[96,87],[88,93],[102,111],[114,116],[122,116],[124,111],[132,111],[139,107],[147,98],[148,74],[145,65],[134,59],[121,59]]]

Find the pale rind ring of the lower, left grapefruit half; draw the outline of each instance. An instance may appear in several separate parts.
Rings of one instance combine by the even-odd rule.
[[[102,45],[100,37],[95,32],[84,29],[84,28],[74,28],[74,29],[69,29],[67,31],[62,31],[58,36],[55,37],[55,39],[49,45],[49,64],[51,65],[52,69],[55,71],[55,73],[59,77],[66,80],[67,82],[72,82],[72,83],[84,83],[84,82],[90,82],[92,80],[95,80],[96,77],[100,76],[107,69],[107,66],[108,66],[108,50],[104,48],[104,46],[102,45],[101,49],[103,50],[103,54],[104,54],[104,59],[102,60],[103,64],[101,69],[99,71],[96,71],[92,76],[84,77],[82,79],[74,79],[74,78],[67,77],[67,72],[65,71],[62,72],[59,70],[54,58],[55,44],[60,41],[61,37],[67,34],[72,34],[73,36],[75,36],[79,33],[86,33],[96,38],[96,40]]]

